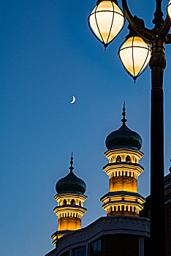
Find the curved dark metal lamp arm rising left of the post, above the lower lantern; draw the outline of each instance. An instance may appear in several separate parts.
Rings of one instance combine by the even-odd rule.
[[[126,0],[122,0],[122,7],[123,7],[123,12],[126,16],[126,19],[129,21],[129,24],[132,26],[132,29],[134,29],[134,31],[136,31],[137,34],[140,34],[140,37],[143,37],[146,40],[150,41],[153,36],[151,29],[142,28],[142,26],[140,26],[140,24],[136,22],[131,12],[129,11],[129,7],[127,5]]]

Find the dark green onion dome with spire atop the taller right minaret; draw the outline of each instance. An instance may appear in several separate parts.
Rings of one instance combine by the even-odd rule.
[[[128,127],[126,127],[126,112],[125,112],[125,102],[123,104],[123,119],[121,120],[123,122],[122,126],[111,132],[110,135],[106,138],[106,147],[108,150],[114,149],[114,148],[133,148],[140,150],[142,147],[142,138],[140,135],[137,134],[137,132],[132,131]]]

